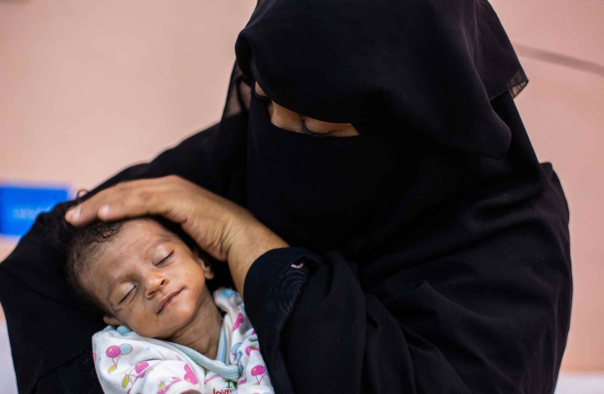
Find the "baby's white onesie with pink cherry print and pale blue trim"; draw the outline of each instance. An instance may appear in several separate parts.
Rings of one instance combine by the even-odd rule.
[[[239,293],[220,288],[214,302],[226,312],[216,360],[181,344],[141,337],[125,326],[92,336],[92,357],[106,394],[274,393],[258,337]]]

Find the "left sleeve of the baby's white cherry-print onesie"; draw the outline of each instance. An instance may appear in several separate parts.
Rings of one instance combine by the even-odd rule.
[[[106,394],[204,392],[195,366],[154,343],[104,330],[92,337],[92,358]]]

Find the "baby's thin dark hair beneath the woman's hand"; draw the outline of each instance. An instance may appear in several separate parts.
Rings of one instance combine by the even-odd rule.
[[[144,216],[141,218],[129,218],[120,221],[102,222],[94,221],[84,227],[74,227],[65,221],[65,212],[72,206],[82,202],[77,199],[70,201],[64,205],[59,205],[58,216],[56,218],[56,227],[53,229],[54,243],[58,244],[65,251],[65,278],[75,293],[77,299],[85,305],[100,308],[107,315],[112,315],[101,300],[94,297],[83,283],[83,277],[89,270],[90,263],[94,260],[95,253],[98,247],[103,242],[108,242],[120,234],[124,224],[133,220],[150,220],[155,221],[159,225],[175,234],[186,244],[194,253],[199,253],[199,256],[204,259],[208,265],[213,265],[212,259],[207,253],[199,248],[195,241],[182,230],[180,225],[168,221],[161,216]]]

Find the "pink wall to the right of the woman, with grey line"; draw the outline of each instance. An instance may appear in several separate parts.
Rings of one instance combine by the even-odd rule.
[[[492,5],[514,44],[604,65],[603,1],[498,0]],[[516,105],[539,161],[553,163],[570,207],[574,297],[562,368],[604,370],[604,78],[519,59],[530,81]]]

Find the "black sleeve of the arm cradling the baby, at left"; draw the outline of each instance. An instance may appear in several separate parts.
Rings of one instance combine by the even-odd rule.
[[[245,187],[241,187],[245,185],[245,168],[241,167],[245,164],[244,125],[244,115],[225,118],[150,163],[124,169],[90,195],[129,179],[176,174],[241,203],[245,198]],[[63,365],[65,369],[74,357],[90,349],[92,334],[104,326],[100,312],[79,303],[66,284],[63,251],[49,237],[58,212],[55,207],[39,215],[0,264],[0,302],[22,393],[34,392],[42,376],[44,387],[53,386],[53,376],[65,375],[57,368]]]

